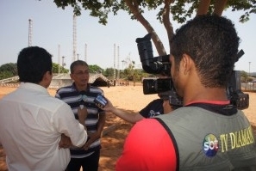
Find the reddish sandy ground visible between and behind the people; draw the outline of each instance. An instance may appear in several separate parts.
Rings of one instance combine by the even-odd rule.
[[[157,95],[143,95],[141,85],[136,86],[118,86],[110,88],[101,88],[104,94],[113,105],[118,108],[127,110],[128,113],[137,113],[142,107],[145,107],[150,101],[157,98]],[[15,88],[0,87],[0,99],[3,95],[14,91]],[[49,89],[51,95],[55,95],[55,89]],[[248,93],[250,95],[250,107],[244,110],[247,118],[256,126],[256,93]],[[122,145],[132,124],[117,118],[114,114],[108,113],[107,121],[102,137],[102,150],[100,157],[99,171],[115,170],[117,158],[122,153]],[[0,147],[0,171],[6,171],[5,155]]]

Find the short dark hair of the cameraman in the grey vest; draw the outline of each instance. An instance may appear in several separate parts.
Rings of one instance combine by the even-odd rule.
[[[180,27],[170,42],[176,70],[182,55],[190,55],[203,86],[207,88],[227,85],[239,43],[232,21],[217,15],[196,16]]]

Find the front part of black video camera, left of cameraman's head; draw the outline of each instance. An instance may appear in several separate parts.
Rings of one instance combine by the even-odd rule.
[[[151,34],[143,38],[137,38],[136,43],[140,54],[140,62],[143,70],[150,74],[160,74],[168,78],[145,78],[143,79],[144,95],[159,94],[160,98],[169,100],[172,107],[182,107],[183,101],[173,87],[171,78],[170,55],[153,57],[153,47],[151,43]],[[164,95],[165,92],[169,95]]]

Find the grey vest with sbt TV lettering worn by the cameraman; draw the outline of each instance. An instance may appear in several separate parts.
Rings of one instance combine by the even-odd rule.
[[[176,143],[178,170],[255,170],[255,137],[242,112],[182,107],[158,118]]]

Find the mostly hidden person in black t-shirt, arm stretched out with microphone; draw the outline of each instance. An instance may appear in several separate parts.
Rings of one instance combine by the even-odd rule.
[[[159,99],[155,99],[147,104],[146,107],[140,110],[139,113],[127,113],[122,109],[118,109],[114,107],[108,99],[108,103],[105,107],[102,107],[104,111],[111,112],[116,114],[116,116],[120,117],[128,121],[129,123],[136,123],[141,119],[145,118],[153,118],[160,114],[170,113],[174,110],[174,106],[170,105],[169,103],[169,95],[171,91],[159,93]],[[100,107],[100,106],[99,106]]]

